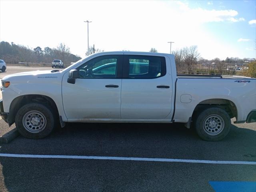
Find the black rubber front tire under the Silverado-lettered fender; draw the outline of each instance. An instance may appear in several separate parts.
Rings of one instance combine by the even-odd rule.
[[[36,127],[39,129],[40,132],[28,131],[29,128],[25,128],[23,125],[24,116],[26,116],[27,114],[29,114],[30,112],[33,112],[33,111],[38,111],[41,114],[43,114],[43,116],[44,116],[42,118],[42,120],[45,119],[44,128],[42,130],[40,130],[38,127]],[[39,104],[39,103],[30,103],[30,104],[26,104],[26,105],[22,106],[18,110],[16,117],[15,117],[15,124],[16,124],[16,128],[17,128],[18,132],[22,136],[24,136],[26,138],[30,138],[30,139],[41,139],[41,138],[48,136],[53,131],[54,125],[56,124],[56,122],[54,120],[54,113],[52,111],[54,111],[54,110],[44,106],[43,104]],[[34,112],[34,113],[36,113],[36,112]],[[34,116],[34,117],[36,117],[36,116]],[[39,114],[39,118],[40,117],[41,116]],[[31,121],[28,121],[28,119],[29,118],[26,118],[25,121],[27,121],[27,123],[29,124]],[[40,123],[39,123],[39,126],[41,125]],[[31,125],[32,125],[32,123],[31,123]],[[32,128],[35,128],[35,127],[32,125]],[[30,129],[32,129],[32,128],[30,128]],[[34,131],[38,131],[38,130],[34,130]]]

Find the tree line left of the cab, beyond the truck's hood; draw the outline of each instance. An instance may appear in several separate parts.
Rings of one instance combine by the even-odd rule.
[[[9,64],[18,64],[19,62],[51,63],[54,59],[60,59],[66,65],[81,59],[80,56],[72,54],[70,48],[63,43],[56,48],[45,47],[42,49],[40,46],[29,48],[4,41],[0,42],[0,58]]]

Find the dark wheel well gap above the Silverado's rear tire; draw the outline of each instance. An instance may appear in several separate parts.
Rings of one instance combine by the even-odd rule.
[[[193,111],[192,117],[195,116],[199,111],[204,110],[210,106],[219,107],[225,110],[230,118],[237,118],[237,107],[234,102],[228,99],[207,99],[203,100],[196,105],[196,108]]]

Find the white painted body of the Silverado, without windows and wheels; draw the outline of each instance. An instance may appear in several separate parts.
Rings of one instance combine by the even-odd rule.
[[[104,55],[150,55],[166,59],[166,75],[153,79],[76,79],[67,82],[71,69]],[[239,80],[239,81],[238,81]],[[36,71],[5,76],[3,108],[8,113],[18,96],[39,94],[52,98],[64,122],[183,122],[208,99],[226,99],[237,108],[236,120],[245,121],[256,109],[256,79],[185,78],[176,75],[174,56],[145,52],[101,52],[60,72]],[[107,84],[118,88],[106,88]],[[170,86],[168,89],[156,88]]]

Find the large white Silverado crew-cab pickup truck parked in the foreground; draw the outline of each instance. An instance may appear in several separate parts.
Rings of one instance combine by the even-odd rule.
[[[256,122],[256,79],[177,75],[174,56],[101,52],[64,70],[2,79],[0,114],[27,138],[65,122],[181,122],[208,141],[236,123]]]

